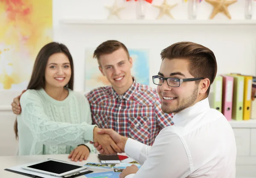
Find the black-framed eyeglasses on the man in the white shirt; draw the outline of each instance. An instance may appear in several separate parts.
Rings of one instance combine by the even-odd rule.
[[[152,77],[152,79],[153,79],[153,83],[156,84],[156,85],[163,85],[164,80],[166,80],[167,84],[169,86],[179,87],[182,82],[202,80],[204,78],[202,78],[202,77],[201,78],[184,78],[184,79],[182,79],[182,78],[172,78],[172,77],[164,78],[164,77],[160,77],[158,75],[154,75]]]

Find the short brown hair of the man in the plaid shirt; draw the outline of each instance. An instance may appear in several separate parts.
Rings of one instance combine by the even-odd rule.
[[[94,58],[97,58],[98,59],[98,62],[99,62],[99,57],[101,55],[108,55],[108,54],[111,54],[112,52],[118,50],[118,49],[124,49],[126,54],[127,54],[127,57],[129,58],[130,55],[129,55],[129,52],[128,52],[128,49],[126,48],[126,46],[119,42],[119,41],[116,41],[116,40],[108,40],[108,41],[105,41],[103,43],[101,43],[94,51],[93,53],[93,57]]]

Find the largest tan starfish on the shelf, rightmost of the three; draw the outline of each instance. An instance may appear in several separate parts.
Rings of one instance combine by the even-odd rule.
[[[233,3],[236,3],[237,0],[205,0],[207,3],[210,3],[213,6],[213,11],[210,19],[213,19],[216,14],[223,12],[229,19],[231,19],[230,13],[227,10],[227,7]]]

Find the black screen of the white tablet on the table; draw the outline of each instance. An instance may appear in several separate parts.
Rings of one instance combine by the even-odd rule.
[[[47,171],[47,172],[53,172],[55,174],[61,174],[64,172],[72,171],[74,169],[78,169],[81,166],[65,164],[65,163],[61,163],[61,162],[57,162],[57,161],[46,161],[43,163],[28,166],[28,167],[33,168],[33,169],[42,170],[42,171]]]

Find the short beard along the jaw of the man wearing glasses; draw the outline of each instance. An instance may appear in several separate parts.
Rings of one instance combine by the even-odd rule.
[[[188,98],[183,98],[183,100],[181,101],[181,103],[183,104],[178,106],[176,109],[169,108],[168,106],[164,106],[162,104],[162,111],[167,114],[180,112],[183,109],[186,109],[189,106],[191,106],[195,102],[197,97],[198,97],[198,86],[195,87],[192,95],[190,95]]]

